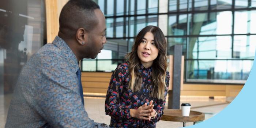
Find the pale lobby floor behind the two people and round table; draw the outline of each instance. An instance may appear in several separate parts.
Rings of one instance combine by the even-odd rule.
[[[10,102],[10,95],[0,95],[0,128],[4,128],[6,116],[8,112],[8,103]],[[233,100],[233,97],[209,97],[203,96],[181,96],[181,103],[191,103],[191,110],[205,113],[205,120],[211,118],[215,114],[223,110]],[[102,97],[84,97],[85,109],[89,117],[95,122],[110,123],[110,116],[105,115],[105,98]],[[167,101],[166,106],[167,108]],[[193,125],[193,123],[186,123],[186,126]],[[180,122],[159,121],[157,128],[179,128],[183,124]]]

